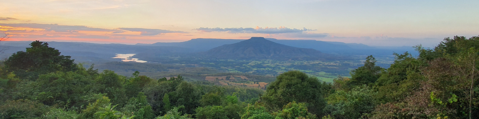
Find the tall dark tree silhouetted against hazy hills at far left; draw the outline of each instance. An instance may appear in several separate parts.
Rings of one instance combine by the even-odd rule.
[[[32,47],[26,48],[26,52],[13,53],[4,62],[5,68],[26,79],[36,79],[38,75],[50,72],[78,69],[70,56],[60,55],[58,50],[48,47],[46,42],[36,40],[30,46]]]

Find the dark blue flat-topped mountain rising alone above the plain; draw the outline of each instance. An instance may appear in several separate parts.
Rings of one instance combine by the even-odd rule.
[[[327,54],[314,49],[287,46],[266,40],[263,37],[251,37],[234,44],[222,45],[205,52],[212,58],[278,58],[278,57],[321,57]]]

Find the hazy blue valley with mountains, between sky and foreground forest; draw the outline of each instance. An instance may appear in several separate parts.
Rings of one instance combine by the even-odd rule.
[[[3,57],[28,47],[28,43],[6,41],[2,47],[12,50],[6,50]],[[351,69],[363,65],[368,55],[361,55],[357,51],[375,50],[370,53],[376,54],[376,65],[383,68],[393,63],[393,51],[409,51],[377,49],[363,44],[262,37],[250,40],[193,39],[137,45],[84,42],[49,44],[62,50],[62,54],[72,56],[75,62],[84,63],[85,67],[95,64],[95,68],[110,69],[124,76],[132,76],[134,71],[140,71],[158,79],[180,74],[187,80],[202,81],[206,75],[256,75],[262,77],[256,78],[259,82],[265,83],[288,70],[299,70],[331,83],[338,76],[350,77]]]

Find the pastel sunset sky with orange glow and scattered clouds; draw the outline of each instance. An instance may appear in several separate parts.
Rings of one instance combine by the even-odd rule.
[[[479,0],[0,0],[12,41],[322,40],[434,47],[479,35]],[[3,35],[0,33],[0,35]]]

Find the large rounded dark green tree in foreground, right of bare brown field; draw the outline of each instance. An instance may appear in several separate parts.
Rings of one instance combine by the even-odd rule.
[[[308,77],[300,71],[287,71],[269,84],[260,101],[265,102],[267,109],[280,110],[289,102],[297,101],[308,104],[308,110],[322,116],[325,106],[323,84],[316,77]]]

